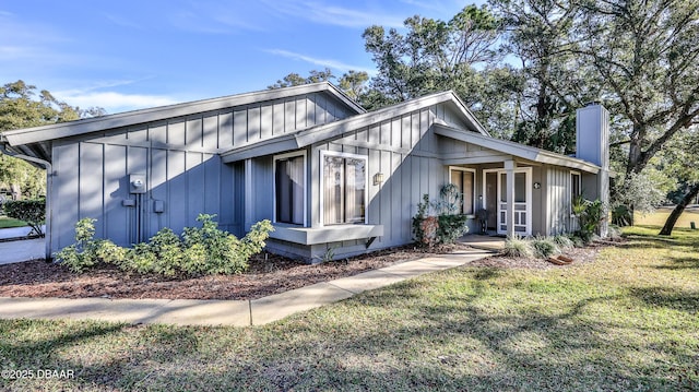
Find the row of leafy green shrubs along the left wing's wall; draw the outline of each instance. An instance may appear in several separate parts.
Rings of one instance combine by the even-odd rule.
[[[75,225],[76,243],[63,248],[56,258],[71,271],[82,272],[99,262],[125,271],[156,273],[165,276],[236,274],[248,268],[248,260],[264,247],[273,230],[269,221],[256,223],[242,238],[218,229],[215,215],[200,214],[202,227],[186,227],[181,238],[163,228],[147,242],[131,249],[104,239],[94,239],[95,219],[84,218]]]

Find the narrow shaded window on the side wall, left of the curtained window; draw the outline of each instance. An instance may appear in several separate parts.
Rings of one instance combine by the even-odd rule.
[[[274,157],[274,221],[304,225],[306,216],[306,153]]]

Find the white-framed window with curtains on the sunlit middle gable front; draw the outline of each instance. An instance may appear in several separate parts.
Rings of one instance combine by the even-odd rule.
[[[367,159],[360,155],[321,153],[322,222],[366,222]]]

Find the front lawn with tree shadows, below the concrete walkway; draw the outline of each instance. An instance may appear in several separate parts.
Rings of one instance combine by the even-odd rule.
[[[0,390],[699,389],[699,230],[595,263],[460,268],[257,328],[0,321]]]

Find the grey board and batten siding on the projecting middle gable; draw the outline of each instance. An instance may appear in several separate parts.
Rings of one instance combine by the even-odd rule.
[[[439,156],[438,136],[430,129],[436,119],[463,127],[446,105],[398,115],[360,129],[346,132],[332,142],[315,144],[310,152],[310,222],[320,227],[320,152],[343,152],[367,157],[368,224],[383,225],[383,236],[369,249],[381,249],[413,241],[411,219],[417,213],[423,194],[436,200],[447,183],[448,169]],[[455,122],[455,123],[454,123]],[[465,127],[464,127],[465,129]],[[374,185],[374,176],[383,174],[384,182]],[[342,247],[342,243],[333,245]],[[363,246],[352,249],[363,250]],[[335,254],[343,252],[336,249]]]

